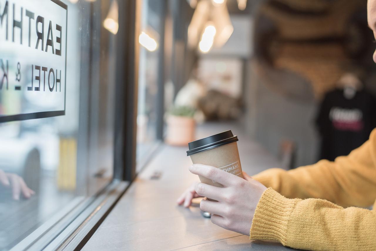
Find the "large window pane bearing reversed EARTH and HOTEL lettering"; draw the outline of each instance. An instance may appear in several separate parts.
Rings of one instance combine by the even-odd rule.
[[[112,180],[111,3],[0,0],[0,249],[53,226]]]

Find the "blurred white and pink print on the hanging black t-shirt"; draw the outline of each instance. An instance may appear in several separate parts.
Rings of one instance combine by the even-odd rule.
[[[359,109],[345,109],[335,106],[330,110],[329,119],[334,128],[341,131],[360,131],[363,129],[363,113]]]

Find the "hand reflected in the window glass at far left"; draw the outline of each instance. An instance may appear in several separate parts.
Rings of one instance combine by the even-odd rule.
[[[3,170],[0,170],[0,183],[4,187],[12,187],[12,195],[13,199],[15,200],[20,199],[21,193],[26,199],[29,199],[32,195],[35,194],[33,190],[27,187],[23,178],[15,173],[6,173]]]

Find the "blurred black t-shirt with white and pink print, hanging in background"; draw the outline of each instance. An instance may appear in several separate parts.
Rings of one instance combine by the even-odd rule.
[[[343,89],[328,92],[316,120],[321,135],[320,159],[334,160],[361,146],[376,127],[376,103],[367,90],[352,99]]]

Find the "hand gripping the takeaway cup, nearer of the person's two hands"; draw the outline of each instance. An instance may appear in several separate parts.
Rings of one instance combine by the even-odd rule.
[[[197,183],[194,190],[200,196],[216,201],[202,200],[200,209],[212,213],[211,221],[227,230],[249,235],[253,215],[262,193],[267,189],[243,172],[243,178],[221,169],[193,164],[190,172],[220,183],[223,187]]]

